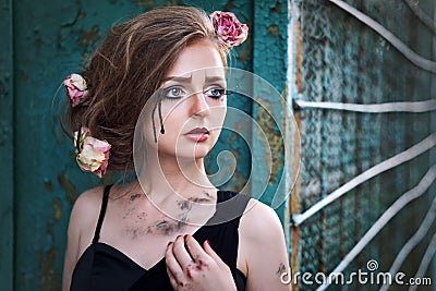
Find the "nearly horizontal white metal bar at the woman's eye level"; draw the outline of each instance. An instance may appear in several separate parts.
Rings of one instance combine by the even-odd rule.
[[[385,102],[385,104],[342,104],[342,102],[315,102],[294,100],[300,108],[332,109],[363,113],[388,113],[388,112],[429,112],[436,110],[436,99],[414,102]]]

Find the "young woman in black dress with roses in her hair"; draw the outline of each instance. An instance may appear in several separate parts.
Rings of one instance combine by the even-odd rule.
[[[135,167],[137,180],[78,197],[63,290],[290,289],[275,211],[217,190],[204,168],[226,114],[227,53],[246,35],[232,13],[162,8],[111,29],[65,78],[78,166]]]

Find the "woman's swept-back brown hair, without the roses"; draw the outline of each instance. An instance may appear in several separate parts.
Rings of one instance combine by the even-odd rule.
[[[133,135],[141,110],[182,50],[201,40],[215,44],[227,65],[229,48],[197,8],[148,11],[108,33],[82,72],[89,101],[68,112],[71,131],[87,126],[94,137],[112,145],[108,170],[133,168]]]

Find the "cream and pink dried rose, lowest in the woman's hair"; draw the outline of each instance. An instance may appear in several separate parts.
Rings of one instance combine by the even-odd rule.
[[[90,136],[89,129],[84,126],[82,126],[80,134],[74,132],[74,145],[76,146],[75,159],[78,167],[85,172],[93,172],[101,178],[108,168],[111,145],[106,141]]]

